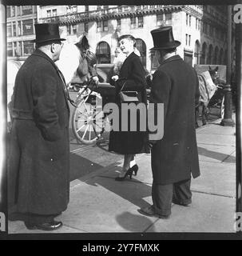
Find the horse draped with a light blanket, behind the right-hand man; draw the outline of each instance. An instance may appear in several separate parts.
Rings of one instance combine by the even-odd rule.
[[[219,74],[218,74],[219,67],[216,66],[212,70],[211,66],[208,66],[208,73],[210,75],[210,78],[212,78],[212,83],[216,86],[218,83],[220,83]],[[196,128],[198,127],[198,116],[199,116],[199,108],[202,106],[202,124],[203,126],[207,124],[207,117],[208,117],[208,108],[211,106],[210,99],[212,98],[212,95],[215,93],[216,89],[213,87],[212,94],[209,94],[208,92],[208,76],[207,78],[205,75],[205,72],[202,74],[198,74],[199,79],[199,90],[200,90],[200,99],[198,105],[195,107],[195,122],[196,122]],[[207,80],[207,81],[206,81]],[[210,104],[209,104],[210,103]]]

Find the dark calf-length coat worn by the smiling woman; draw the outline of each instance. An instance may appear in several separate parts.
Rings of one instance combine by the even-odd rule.
[[[145,70],[142,66],[141,59],[137,54],[129,54],[125,58],[125,62],[121,66],[119,78],[125,78],[125,86],[123,91],[137,91],[139,94],[140,102],[145,103],[145,109],[147,105],[146,98],[146,81]],[[121,106],[119,98],[119,92],[123,82],[116,85],[116,103]],[[109,136],[109,151],[114,151],[119,154],[138,154],[143,152],[149,152],[145,148],[145,142],[148,140],[148,134],[146,131],[121,131],[121,107],[119,107],[119,119],[120,119],[120,131],[111,131]],[[133,117],[131,117],[133,118]],[[137,114],[137,130],[139,130],[139,118]],[[146,120],[145,120],[146,122]],[[129,126],[129,122],[128,122]],[[145,123],[146,126],[146,123]]]

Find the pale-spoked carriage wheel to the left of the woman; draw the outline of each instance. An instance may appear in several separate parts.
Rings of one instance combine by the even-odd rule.
[[[72,116],[73,134],[78,141],[85,144],[95,144],[104,132],[107,117],[103,118],[101,111],[96,111],[96,98],[88,95],[76,102]]]

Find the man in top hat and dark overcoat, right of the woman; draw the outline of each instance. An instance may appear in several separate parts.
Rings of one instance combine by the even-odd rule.
[[[200,176],[195,131],[195,102],[199,98],[195,70],[176,54],[181,42],[173,38],[172,26],[152,30],[156,58],[161,64],[153,74],[150,103],[164,104],[163,138],[149,141],[153,171],[153,205],[139,212],[169,218],[172,202],[192,202],[191,174]],[[156,112],[155,112],[156,117]]]

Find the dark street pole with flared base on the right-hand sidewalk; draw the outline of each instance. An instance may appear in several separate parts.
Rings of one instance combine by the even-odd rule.
[[[227,27],[227,74],[226,85],[224,86],[224,118],[220,122],[221,126],[234,126],[232,120],[232,89],[231,89],[231,49],[232,49],[232,6],[228,6],[228,27]]]

